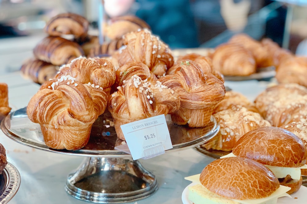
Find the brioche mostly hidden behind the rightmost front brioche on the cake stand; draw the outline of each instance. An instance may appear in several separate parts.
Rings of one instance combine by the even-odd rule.
[[[224,76],[219,71],[213,69],[212,60],[210,57],[191,53],[184,56],[179,56],[177,61],[181,63],[183,60],[194,61],[204,73],[211,73],[220,79],[223,83],[225,82]],[[173,74],[173,69],[168,69],[167,74]]]

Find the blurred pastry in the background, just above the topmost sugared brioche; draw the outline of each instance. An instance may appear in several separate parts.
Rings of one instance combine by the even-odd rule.
[[[141,29],[150,30],[150,26],[142,19],[133,16],[112,17],[104,26],[104,34],[111,40],[122,38],[126,33],[138,31]]]

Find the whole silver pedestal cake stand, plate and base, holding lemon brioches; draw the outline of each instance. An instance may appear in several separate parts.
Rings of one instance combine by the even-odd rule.
[[[10,139],[29,147],[67,155],[84,156],[84,161],[68,175],[65,191],[73,197],[94,203],[124,203],[144,199],[158,187],[155,175],[130,154],[115,150],[124,141],[117,138],[107,112],[95,121],[87,145],[79,150],[51,149],[45,145],[39,124],[29,120],[26,108],[16,110],[1,122]],[[112,119],[111,119],[112,120]],[[214,117],[206,127],[175,125],[169,115],[166,122],[173,148],[165,153],[195,147],[214,137],[220,130]]]

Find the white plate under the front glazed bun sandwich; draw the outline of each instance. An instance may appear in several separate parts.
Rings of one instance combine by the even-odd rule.
[[[181,196],[183,204],[192,204],[192,202],[189,201],[189,199],[188,199],[188,194],[189,194],[188,187],[193,186],[193,185],[195,185],[195,184],[191,183],[190,185],[185,187],[185,189],[183,190],[182,196]],[[291,194],[291,197],[292,198],[290,198],[290,197],[278,198],[277,204],[306,204],[307,187],[301,186],[301,188],[297,192]]]

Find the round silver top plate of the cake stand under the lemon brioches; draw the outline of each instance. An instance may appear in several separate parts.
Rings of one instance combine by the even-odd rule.
[[[110,121],[112,121],[112,117],[109,112],[99,116],[92,125],[89,142],[84,148],[79,150],[57,150],[49,148],[44,142],[40,125],[29,120],[26,114],[26,108],[19,109],[8,115],[2,121],[1,129],[8,137],[18,143],[51,152],[79,154],[84,156],[130,156],[114,149],[115,146],[122,144],[123,140],[117,137],[114,126],[110,126]],[[209,140],[220,130],[214,117],[211,118],[211,122],[206,127],[200,128],[189,128],[188,126],[176,125],[171,121],[169,115],[166,116],[166,122],[173,148],[165,152],[192,148]]]

